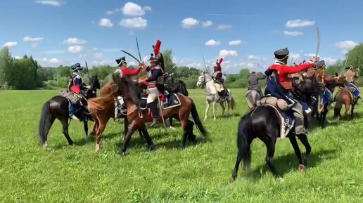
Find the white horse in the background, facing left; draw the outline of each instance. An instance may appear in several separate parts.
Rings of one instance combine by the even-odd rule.
[[[209,74],[203,73],[198,78],[198,82],[196,84],[198,87],[203,88],[204,91],[205,91],[205,100],[207,102],[207,108],[205,109],[204,120],[207,119],[207,117],[208,117],[208,110],[209,110],[210,103],[212,103],[212,105],[213,105],[213,117],[214,117],[214,119],[216,119],[216,117],[215,117],[215,103],[219,103],[221,105],[221,107],[222,107],[222,116],[224,116],[224,111],[226,110],[226,108],[224,107],[224,102],[225,101],[227,101],[227,105],[228,105],[227,112],[229,111],[229,108],[231,108],[233,110],[234,106],[236,105],[236,103],[234,102],[234,98],[232,97],[231,91],[229,89],[227,89],[227,91],[229,93],[229,96],[227,96],[227,98],[222,98],[221,96],[218,95],[217,90],[215,89],[215,84],[214,83],[215,82],[213,81],[212,77],[210,77]]]

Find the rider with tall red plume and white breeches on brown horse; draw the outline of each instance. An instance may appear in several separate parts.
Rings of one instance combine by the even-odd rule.
[[[163,69],[160,67],[160,59],[158,57],[160,50],[161,41],[157,41],[156,46],[153,46],[154,54],[151,53],[151,57],[149,59],[150,66],[146,67],[143,64],[144,68],[148,72],[148,77],[146,79],[139,79],[139,83],[144,83],[148,86],[148,98],[146,99],[146,103],[151,110],[151,114],[153,117],[153,123],[151,126],[155,126],[160,123],[159,120],[159,111],[158,111],[158,97],[159,91],[160,93],[164,93],[164,81],[163,81]],[[160,56],[160,55],[159,55]]]

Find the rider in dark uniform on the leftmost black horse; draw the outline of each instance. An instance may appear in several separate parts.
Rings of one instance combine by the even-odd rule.
[[[86,86],[83,82],[82,76],[79,71],[82,71],[83,68],[79,63],[76,63],[75,65],[72,65],[70,67],[73,71],[72,79],[70,80],[70,83],[68,84],[68,90],[70,90],[72,93],[75,94],[79,98],[76,105],[79,105],[81,112],[81,118],[84,119],[86,117],[85,114],[88,114],[89,111],[87,110],[87,95],[85,94],[85,91],[91,89],[91,86]],[[72,119],[78,119],[75,117],[75,115],[72,115]]]

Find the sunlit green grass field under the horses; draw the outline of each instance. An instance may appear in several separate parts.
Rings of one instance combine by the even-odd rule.
[[[137,133],[129,155],[117,152],[122,124],[110,121],[102,148],[94,154],[95,141],[84,140],[81,122],[72,121],[68,146],[55,122],[49,134],[50,150],[37,138],[43,103],[59,91],[0,91],[0,202],[363,202],[363,105],[356,119],[312,129],[308,136],[312,156],[305,173],[297,171],[298,159],[288,139],[276,143],[276,181],[265,164],[265,145],[252,145],[252,171],[228,184],[236,159],[238,114],[247,112],[246,89],[233,89],[234,116],[210,117],[203,124],[212,143],[188,143],[178,148],[179,124],[167,133],[150,129],[158,149],[146,152]],[[191,90],[199,116],[205,112],[204,92]],[[331,119],[331,113],[329,119]],[[91,125],[89,123],[89,128]],[[197,133],[197,131],[195,131]],[[300,144],[300,143],[299,143]],[[305,152],[305,148],[300,145]]]

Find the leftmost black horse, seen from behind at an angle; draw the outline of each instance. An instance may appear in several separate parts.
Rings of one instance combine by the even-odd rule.
[[[91,88],[86,93],[87,99],[95,98],[97,95],[97,89],[101,88],[101,84],[98,80],[97,75],[89,79],[89,85],[91,86]],[[80,114],[81,112],[75,112],[75,116],[78,118],[81,116]],[[49,129],[51,129],[51,126],[55,119],[58,119],[62,123],[63,134],[65,138],[67,138],[68,144],[72,145],[73,141],[68,134],[68,126],[70,124],[69,101],[68,98],[65,98],[63,96],[54,96],[50,100],[46,101],[46,103],[44,103],[42,107],[42,116],[39,122],[40,143],[43,145],[44,148],[47,148]],[[88,120],[91,120],[91,116],[89,115],[86,115],[86,117],[82,119],[86,139],[88,138]]]

